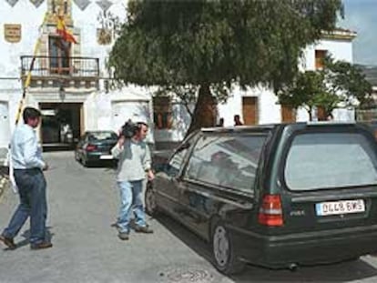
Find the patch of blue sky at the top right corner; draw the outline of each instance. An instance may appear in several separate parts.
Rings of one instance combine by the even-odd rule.
[[[357,32],[353,63],[377,66],[377,0],[343,0],[344,19],[338,25]]]

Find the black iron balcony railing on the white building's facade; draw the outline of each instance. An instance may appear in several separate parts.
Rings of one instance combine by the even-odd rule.
[[[21,56],[21,76],[27,76],[30,68],[32,77],[98,78],[99,59],[92,57]]]

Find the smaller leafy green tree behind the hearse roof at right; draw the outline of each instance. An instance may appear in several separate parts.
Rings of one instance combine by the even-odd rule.
[[[299,73],[277,95],[282,105],[305,108],[311,120],[314,106],[321,107],[324,116],[328,116],[337,107],[368,105],[372,100],[372,86],[360,68],[328,56],[323,69]]]

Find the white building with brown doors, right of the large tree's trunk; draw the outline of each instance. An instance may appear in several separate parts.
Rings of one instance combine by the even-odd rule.
[[[326,55],[352,63],[352,40],[355,36],[356,33],[342,29],[323,34],[319,42],[304,50],[301,70],[321,68],[321,59]],[[233,125],[233,116],[236,114],[241,116],[246,125],[309,120],[304,109],[295,113],[290,108],[280,106],[278,97],[265,87],[254,87],[246,91],[237,89],[226,104],[219,106],[219,116],[224,118],[225,126]],[[353,110],[350,109],[335,109],[333,116],[336,120],[354,120]]]

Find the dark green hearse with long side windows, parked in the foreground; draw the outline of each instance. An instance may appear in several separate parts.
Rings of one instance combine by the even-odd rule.
[[[377,251],[377,144],[359,124],[202,129],[159,166],[146,210],[209,241],[216,268],[296,268]]]

